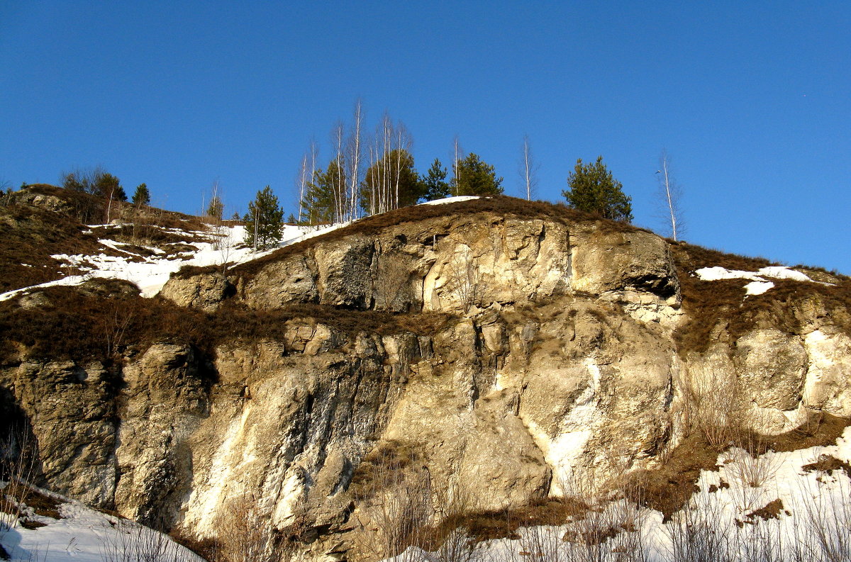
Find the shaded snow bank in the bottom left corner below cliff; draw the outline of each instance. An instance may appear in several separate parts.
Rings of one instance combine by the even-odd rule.
[[[59,519],[27,508],[28,525],[43,525],[28,529],[0,514],[0,544],[12,562],[203,562],[163,533],[49,491],[39,493],[60,502]]]

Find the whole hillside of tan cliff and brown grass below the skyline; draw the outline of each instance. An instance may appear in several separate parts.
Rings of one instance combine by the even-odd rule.
[[[829,445],[851,417],[847,278],[565,207],[400,209],[224,261],[153,298],[0,303],[0,406],[41,482],[197,536],[249,502],[280,552],[359,559],[387,493],[445,531],[463,487],[492,535],[561,522],[579,481],[670,516],[731,444]]]

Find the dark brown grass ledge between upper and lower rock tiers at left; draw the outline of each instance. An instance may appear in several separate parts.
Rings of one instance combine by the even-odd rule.
[[[111,291],[102,287],[105,283]],[[442,314],[393,315],[317,304],[266,311],[229,303],[203,313],[163,298],[117,292],[115,283],[122,281],[49,287],[39,291],[45,304],[30,309],[20,307],[19,299],[0,303],[0,360],[17,360],[20,349],[31,358],[111,360],[129,346],[146,349],[157,342],[186,343],[212,357],[216,346],[226,341],[283,339],[292,320],[325,324],[349,335],[426,335],[453,321]]]

